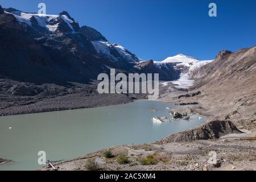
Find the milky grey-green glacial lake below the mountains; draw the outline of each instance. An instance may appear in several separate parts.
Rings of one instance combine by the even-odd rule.
[[[0,158],[13,160],[0,170],[35,170],[38,152],[47,160],[69,160],[111,146],[155,142],[204,122],[154,123],[152,118],[171,117],[166,107],[176,105],[139,100],[126,105],[0,117]],[[156,110],[156,111],[154,111]],[[202,117],[203,119],[199,119]]]

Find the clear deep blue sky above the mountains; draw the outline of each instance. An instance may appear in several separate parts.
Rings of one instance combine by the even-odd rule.
[[[255,0],[0,0],[3,7],[47,14],[66,10],[80,26],[96,28],[143,60],[163,60],[183,53],[213,59],[222,49],[256,45]],[[217,18],[208,16],[210,2]]]

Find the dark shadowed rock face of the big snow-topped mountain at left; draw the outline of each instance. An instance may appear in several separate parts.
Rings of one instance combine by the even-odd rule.
[[[79,24],[65,12],[46,17],[14,9],[6,12],[0,15],[1,78],[40,84],[87,82],[106,70],[102,63],[112,64],[97,57]],[[42,24],[48,16],[51,20]]]

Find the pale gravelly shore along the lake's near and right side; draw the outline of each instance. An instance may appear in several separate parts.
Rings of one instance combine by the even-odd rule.
[[[93,158],[98,163],[99,169],[103,170],[256,170],[255,122],[241,122],[241,119],[247,119],[249,113],[244,112],[243,115],[240,115],[240,118],[228,118],[226,116],[229,114],[230,106],[228,111],[225,110],[220,115],[217,113],[218,110],[215,110],[218,106],[209,107],[210,103],[202,100],[201,96],[179,98],[179,96],[188,93],[182,91],[163,93],[159,101],[170,102],[176,105],[198,102],[198,105],[182,107],[179,111],[207,115],[208,119],[204,125],[170,135],[154,143],[110,147],[108,150],[111,150],[114,155],[112,159],[104,158],[104,151],[107,149],[99,150],[67,162],[57,163],[57,169],[60,171],[84,171],[86,170],[85,164],[89,159]],[[193,93],[191,94],[193,95]],[[251,117],[249,117],[249,121],[250,119]],[[222,124],[219,125],[218,123]],[[221,129],[223,125],[227,126]],[[219,131],[221,133],[215,135],[216,130],[218,130],[217,133]],[[207,135],[204,134],[205,131],[208,131]],[[199,136],[196,139],[193,137],[195,134]],[[210,151],[217,152],[217,164],[212,165],[208,163]],[[129,163],[125,165],[118,164],[117,158],[119,155],[126,155],[129,158]],[[147,156],[155,158],[157,162],[155,164],[144,165],[141,161],[147,159]],[[39,170],[52,169],[46,167]]]

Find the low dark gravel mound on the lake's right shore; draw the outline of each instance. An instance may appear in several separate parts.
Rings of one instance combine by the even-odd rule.
[[[242,133],[230,121],[212,121],[203,126],[196,127],[188,131],[170,135],[167,138],[159,140],[158,144],[170,142],[189,142],[192,140],[218,139],[224,135],[232,133]]]

